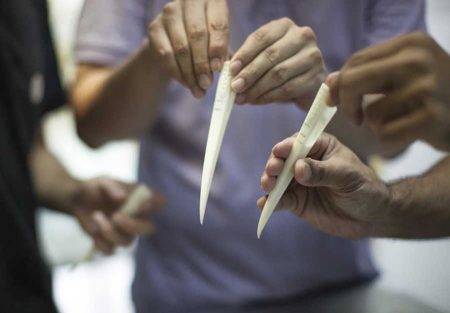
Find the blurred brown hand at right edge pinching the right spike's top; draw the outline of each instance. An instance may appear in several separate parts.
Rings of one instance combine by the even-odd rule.
[[[329,105],[349,121],[365,115],[379,140],[394,146],[423,139],[450,150],[450,56],[424,33],[409,33],[355,53],[326,82]],[[368,105],[363,95],[383,96]]]

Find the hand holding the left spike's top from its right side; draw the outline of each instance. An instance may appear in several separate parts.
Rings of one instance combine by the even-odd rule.
[[[327,72],[309,27],[287,17],[273,20],[245,40],[230,60],[235,103],[295,101],[308,110]]]

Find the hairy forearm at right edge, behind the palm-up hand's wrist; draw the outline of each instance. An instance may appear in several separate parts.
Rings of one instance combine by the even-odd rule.
[[[389,185],[390,199],[374,237],[426,239],[450,236],[450,157],[423,176]]]

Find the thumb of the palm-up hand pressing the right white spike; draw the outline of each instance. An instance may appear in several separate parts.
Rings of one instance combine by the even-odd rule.
[[[294,178],[303,186],[341,188],[345,171],[331,161],[316,161],[310,158],[295,162]]]

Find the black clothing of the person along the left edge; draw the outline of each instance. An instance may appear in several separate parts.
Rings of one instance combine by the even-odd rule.
[[[45,0],[1,0],[0,312],[56,312],[27,159],[40,116],[61,103]]]

